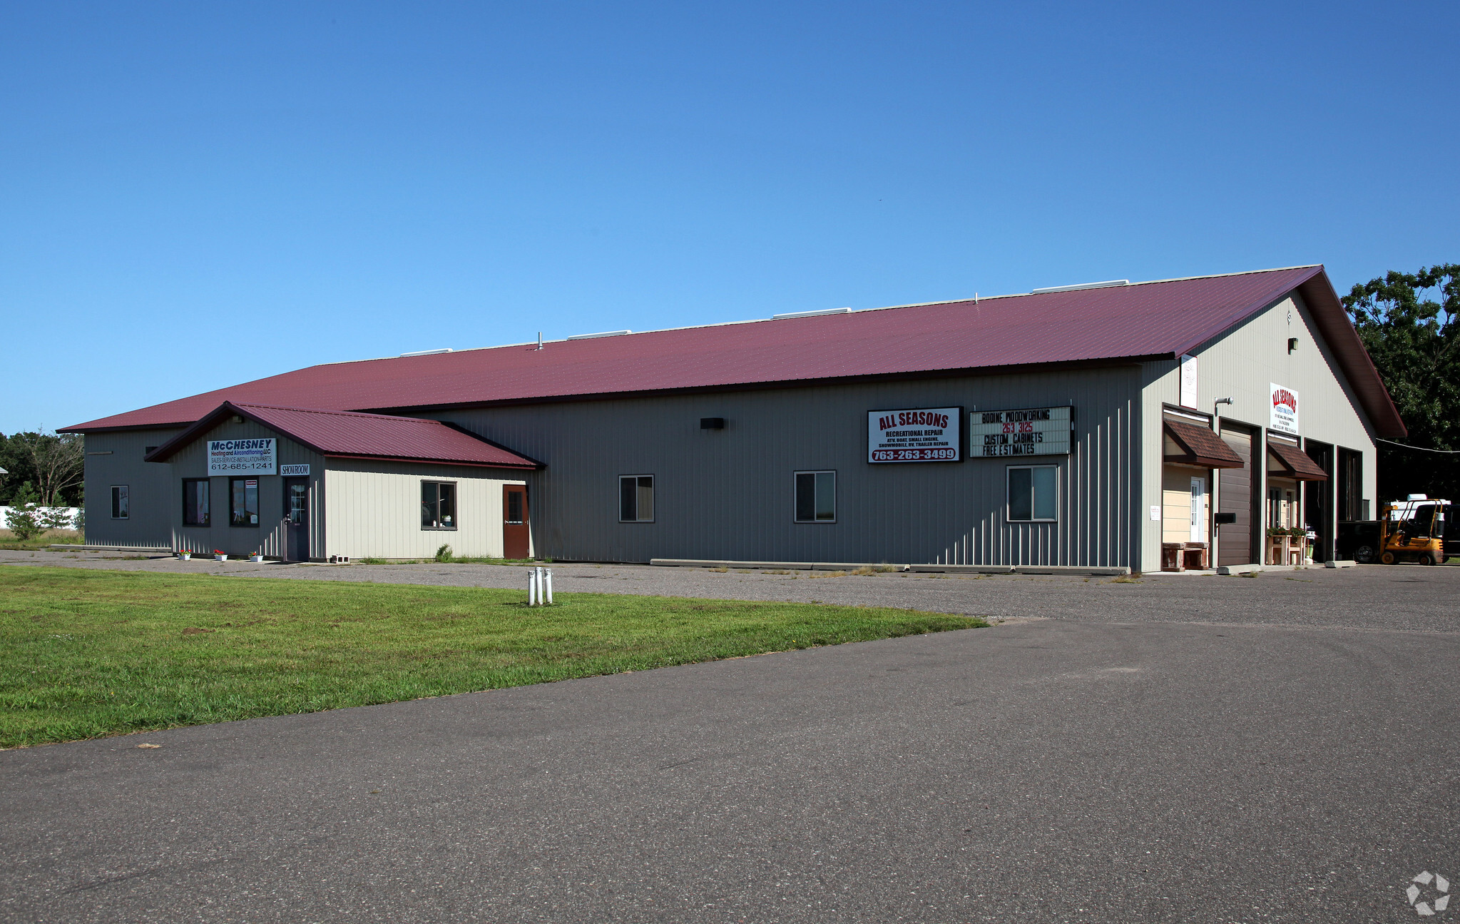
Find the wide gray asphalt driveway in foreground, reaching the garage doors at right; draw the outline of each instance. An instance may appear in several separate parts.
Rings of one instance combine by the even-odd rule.
[[[0,920],[1413,920],[1460,571],[1291,577],[802,578],[1063,617],[0,752]]]

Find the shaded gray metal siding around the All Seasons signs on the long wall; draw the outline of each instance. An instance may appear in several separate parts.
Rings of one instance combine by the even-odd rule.
[[[549,347],[550,349],[550,347]],[[1129,565],[1140,369],[956,377],[437,412],[526,453],[539,555]],[[866,415],[1072,404],[1070,455],[869,464]],[[724,431],[701,431],[724,417]],[[968,419],[964,431],[967,435]],[[1010,524],[1006,469],[1056,464],[1060,518]],[[837,523],[793,521],[797,470],[837,471]],[[618,521],[618,476],[653,474],[654,523]]]

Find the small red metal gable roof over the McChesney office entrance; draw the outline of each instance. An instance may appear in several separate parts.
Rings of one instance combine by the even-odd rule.
[[[197,423],[169,439],[166,445],[153,450],[147,455],[147,461],[166,461],[231,415],[256,420],[321,455],[453,463],[493,469],[540,467],[539,463],[527,457],[439,420],[232,401],[223,401]]]

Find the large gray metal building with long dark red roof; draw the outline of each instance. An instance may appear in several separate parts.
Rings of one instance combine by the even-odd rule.
[[[318,365],[67,428],[88,539],[286,561],[1333,556],[1405,426],[1321,266]]]

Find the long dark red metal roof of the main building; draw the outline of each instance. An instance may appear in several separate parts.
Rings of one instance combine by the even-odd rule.
[[[399,412],[1169,358],[1299,286],[1380,432],[1403,431],[1321,266],[320,365],[69,429],[187,425],[223,400]]]

